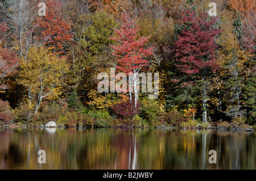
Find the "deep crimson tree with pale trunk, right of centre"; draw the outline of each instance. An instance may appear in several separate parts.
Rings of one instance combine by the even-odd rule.
[[[216,19],[207,12],[196,12],[192,8],[185,10],[184,28],[177,37],[175,48],[175,65],[180,71],[202,79],[203,123],[207,122],[207,75],[218,68],[214,39],[221,30],[214,27]]]

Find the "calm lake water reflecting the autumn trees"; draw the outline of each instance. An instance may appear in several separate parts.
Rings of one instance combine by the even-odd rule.
[[[216,164],[209,150],[217,151]],[[255,132],[0,128],[0,169],[255,170],[255,156]]]

